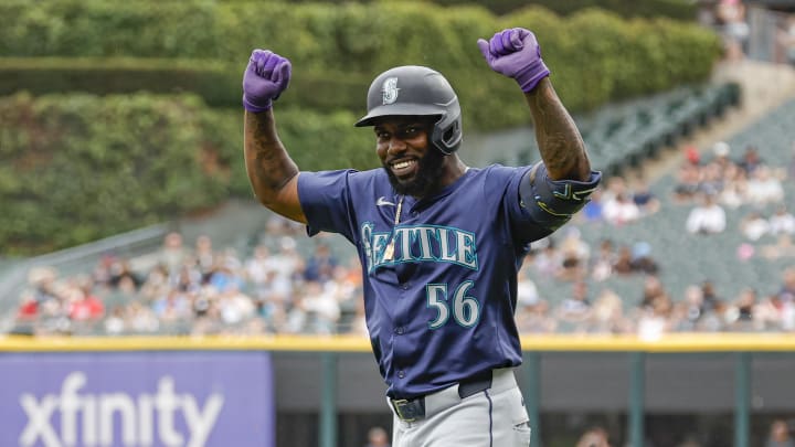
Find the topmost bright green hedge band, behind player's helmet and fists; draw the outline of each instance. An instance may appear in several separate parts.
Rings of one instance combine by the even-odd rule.
[[[19,60],[17,65],[7,60],[2,66],[9,73],[0,74],[0,84],[15,83],[31,92],[52,92],[53,85],[92,93],[113,89],[106,84],[123,92],[188,91],[199,93],[208,104],[236,107],[246,57],[261,46],[293,61],[293,88],[282,99],[289,106],[360,114],[377,73],[421,64],[451,79],[465,106],[467,126],[498,128],[527,123],[527,113],[516,100],[516,86],[488,68],[475,42],[506,26],[537,31],[555,87],[572,110],[702,81],[720,56],[720,41],[709,30],[670,20],[627,21],[596,10],[561,18],[542,8],[497,17],[480,7],[421,2],[128,3],[0,3],[0,20],[7,21],[0,23],[0,55],[114,57],[98,63],[104,66],[62,64],[52,77],[35,66],[20,66]],[[115,57],[156,61],[129,66]],[[169,67],[163,57],[202,62],[174,62]],[[92,77],[97,82],[89,82]]]

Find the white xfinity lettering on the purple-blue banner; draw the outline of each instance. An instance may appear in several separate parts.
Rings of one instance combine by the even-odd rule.
[[[19,445],[202,447],[224,402],[223,395],[213,393],[202,407],[193,395],[177,394],[174,380],[168,375],[158,380],[155,394],[138,396],[120,392],[81,394],[80,390],[86,382],[86,374],[75,371],[64,379],[61,394],[45,394],[41,398],[30,393],[22,394],[19,402],[24,409],[26,425],[19,437]],[[187,433],[181,433],[176,424],[180,415],[188,427]],[[53,424],[54,421],[60,424]],[[55,428],[59,426],[60,430]],[[115,433],[120,439],[114,439]]]

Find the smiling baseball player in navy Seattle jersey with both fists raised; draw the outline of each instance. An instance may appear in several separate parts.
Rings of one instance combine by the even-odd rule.
[[[568,222],[601,179],[533,33],[508,29],[477,44],[524,93],[542,162],[468,168],[456,153],[462,114],[447,79],[399,66],[375,77],[356,123],[373,128],[383,168],[301,172],[272,108],[289,61],[255,50],[243,76],[245,161],[258,200],[309,235],[336,232],[357,247],[394,447],[530,444],[513,376],[517,272],[530,243]]]

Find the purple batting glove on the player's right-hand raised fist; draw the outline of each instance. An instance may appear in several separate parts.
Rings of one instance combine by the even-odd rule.
[[[523,28],[502,30],[488,42],[478,39],[478,47],[491,70],[516,79],[522,92],[532,91],[550,74],[536,35]]]

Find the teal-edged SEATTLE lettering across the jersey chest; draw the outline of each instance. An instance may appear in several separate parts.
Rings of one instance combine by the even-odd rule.
[[[407,225],[393,232],[375,232],[373,224],[361,226],[361,241],[367,255],[368,272],[398,263],[451,263],[478,269],[475,234],[449,226]],[[394,237],[395,254],[384,259],[384,251]]]

